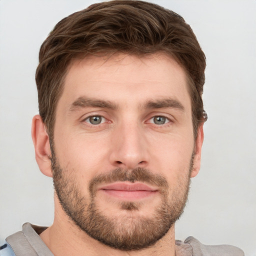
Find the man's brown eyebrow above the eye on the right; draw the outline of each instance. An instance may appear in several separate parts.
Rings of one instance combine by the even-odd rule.
[[[148,100],[144,103],[143,108],[176,108],[184,111],[184,106],[178,100],[173,98]]]

